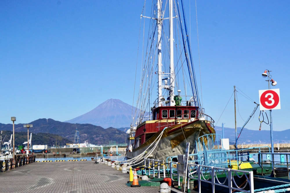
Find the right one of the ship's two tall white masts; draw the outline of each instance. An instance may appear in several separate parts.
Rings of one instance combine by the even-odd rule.
[[[174,79],[175,79],[175,73],[174,73],[174,63],[173,63],[173,3],[172,0],[169,1],[169,43],[170,43],[170,90],[169,90],[169,96],[170,96],[170,106],[174,106],[175,102],[173,100],[174,96]]]

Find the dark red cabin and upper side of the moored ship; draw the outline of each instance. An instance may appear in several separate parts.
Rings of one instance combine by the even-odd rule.
[[[135,133],[134,149],[165,127],[187,123],[198,117],[196,106],[159,106],[152,110],[152,120],[139,124]]]

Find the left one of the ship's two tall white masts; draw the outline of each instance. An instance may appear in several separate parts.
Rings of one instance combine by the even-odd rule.
[[[158,106],[161,103],[162,96],[162,53],[161,53],[161,33],[162,33],[162,19],[161,19],[161,1],[157,1],[157,32],[158,32]]]

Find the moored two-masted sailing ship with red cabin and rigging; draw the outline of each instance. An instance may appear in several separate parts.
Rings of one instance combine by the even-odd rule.
[[[169,0],[168,11],[167,1],[162,2],[153,1],[151,16],[143,16],[144,4],[141,14],[141,18],[150,20],[151,26],[146,28],[149,29],[148,39],[143,40],[143,44],[147,41],[147,47],[142,52],[143,64],[137,99],[140,111],[132,115],[134,125],[131,124],[130,127],[127,159],[145,157],[166,160],[169,156],[184,154],[186,142],[191,142],[189,150],[193,153],[195,141],[199,137],[215,133],[214,120],[204,113],[197,91],[183,2],[181,1],[183,19],[178,2],[173,5],[173,1]],[[174,28],[173,23],[177,27]],[[178,34],[174,35],[173,31],[178,30]],[[177,42],[181,42],[181,47],[174,50]],[[180,74],[186,72],[188,75],[181,78]],[[156,79],[157,85],[154,81]],[[180,85],[184,85],[183,91]],[[187,85],[190,85],[190,95],[186,93]],[[158,93],[156,100],[152,100],[152,92],[156,91],[154,86]],[[153,105],[148,110],[150,104]],[[136,162],[133,161],[135,164]]]

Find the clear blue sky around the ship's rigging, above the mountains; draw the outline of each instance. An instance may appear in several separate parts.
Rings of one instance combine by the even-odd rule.
[[[271,88],[280,89],[281,99],[281,109],[272,111],[273,130],[289,129],[284,122],[290,107],[290,1],[197,0],[201,71],[195,1],[184,3],[206,114],[216,126],[234,128],[234,100],[229,99],[235,85],[241,127],[255,107],[241,93],[259,103],[258,91],[268,89],[262,73],[269,69],[277,81]],[[12,123],[12,116],[16,123],[66,121],[110,98],[135,104],[143,4],[0,1],[0,122]],[[259,129],[259,113],[246,128]],[[270,126],[263,123],[262,129]]]

